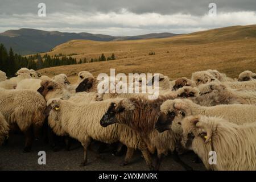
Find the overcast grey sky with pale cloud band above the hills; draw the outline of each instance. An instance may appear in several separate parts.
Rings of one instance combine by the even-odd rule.
[[[38,4],[46,4],[46,17]],[[209,3],[217,16],[209,16]],[[256,0],[0,0],[0,32],[18,28],[139,35],[256,24]]]

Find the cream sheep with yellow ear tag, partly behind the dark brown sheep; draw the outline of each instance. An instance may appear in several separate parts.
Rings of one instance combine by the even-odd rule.
[[[133,149],[139,148],[142,151],[144,159],[150,169],[152,162],[146,144],[139,139],[139,135],[134,130],[131,130],[125,125],[112,125],[109,127],[101,127],[100,119],[106,113],[109,107],[115,107],[122,102],[126,105],[127,110],[133,110],[131,105],[123,98],[115,100],[106,100],[102,102],[80,103],[52,99],[48,101],[52,108],[49,112],[49,126],[52,127],[58,135],[68,134],[69,136],[79,140],[84,147],[84,160],[81,166],[87,163],[87,148],[91,139],[99,140],[105,143],[114,143],[120,141],[127,146],[125,163],[130,162]],[[124,108],[119,108],[116,111],[122,111]]]

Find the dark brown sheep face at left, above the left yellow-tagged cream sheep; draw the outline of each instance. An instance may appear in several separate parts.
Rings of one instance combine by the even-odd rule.
[[[62,93],[62,87],[55,81],[43,80],[38,92],[48,101],[50,98],[57,98]]]

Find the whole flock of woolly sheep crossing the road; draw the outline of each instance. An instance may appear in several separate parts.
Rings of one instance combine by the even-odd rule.
[[[238,79],[210,69],[174,81],[159,74],[156,100],[146,93],[97,93],[99,81],[87,71],[78,74],[76,84],[64,74],[49,78],[27,68],[16,75],[7,79],[0,71],[0,144],[18,126],[28,152],[47,123],[67,139],[67,150],[69,137],[81,142],[81,166],[97,140],[119,142],[117,151],[125,145],[122,165],[138,149],[150,169],[158,170],[168,152],[192,169],[179,158],[192,150],[210,170],[256,170],[256,73],[251,71]],[[216,164],[209,164],[210,151],[217,154]]]

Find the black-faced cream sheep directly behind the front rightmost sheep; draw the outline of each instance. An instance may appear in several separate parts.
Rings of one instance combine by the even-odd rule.
[[[218,116],[230,122],[241,125],[256,121],[256,106],[247,104],[200,106],[188,99],[175,99],[165,101],[160,107],[160,117],[155,128],[159,132],[172,129],[172,123],[179,122],[179,115],[188,117],[189,115]],[[177,117],[176,117],[177,116]],[[179,131],[177,131],[179,132]]]

